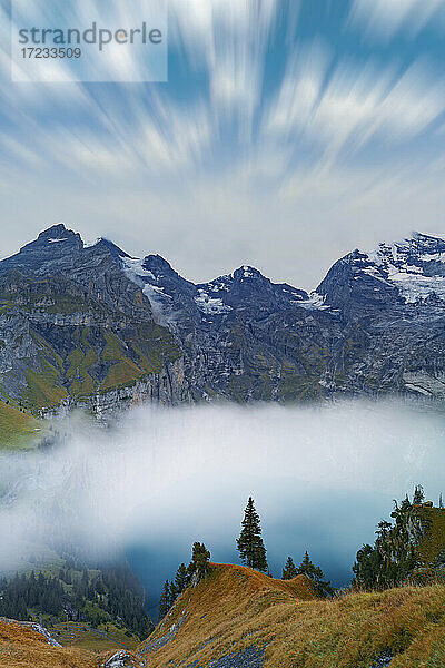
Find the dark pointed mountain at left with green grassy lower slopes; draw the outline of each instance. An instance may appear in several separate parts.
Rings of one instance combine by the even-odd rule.
[[[0,263],[0,400],[36,414],[187,400],[181,351],[121,257],[57,225]]]

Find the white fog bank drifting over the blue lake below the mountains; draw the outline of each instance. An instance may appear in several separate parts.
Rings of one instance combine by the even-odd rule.
[[[308,549],[342,584],[394,498],[445,488],[445,416],[416,405],[145,406],[112,431],[81,415],[60,428],[62,446],[0,456],[3,571],[65,542],[93,559],[126,550],[156,597],[194,540],[237,560],[251,494],[274,574]]]

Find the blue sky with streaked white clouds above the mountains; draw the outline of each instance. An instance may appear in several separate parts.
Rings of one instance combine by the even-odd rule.
[[[445,233],[443,0],[170,0],[167,84],[14,84],[2,11],[1,255],[63,220],[190,279],[313,288]]]

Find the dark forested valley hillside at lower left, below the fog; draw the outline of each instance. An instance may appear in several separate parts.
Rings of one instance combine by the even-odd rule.
[[[0,617],[41,620],[61,645],[100,649],[116,644],[131,649],[152,629],[144,589],[126,564],[93,569],[70,558],[33,561],[0,579]]]

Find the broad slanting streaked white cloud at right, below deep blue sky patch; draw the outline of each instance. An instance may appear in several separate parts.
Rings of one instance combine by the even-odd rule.
[[[426,62],[405,72],[339,61],[326,80],[328,52],[314,45],[289,63],[278,97],[266,114],[264,136],[286,143],[312,141],[332,161],[357,151],[372,139],[388,146],[413,139],[445,109],[444,80],[432,77]]]

